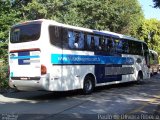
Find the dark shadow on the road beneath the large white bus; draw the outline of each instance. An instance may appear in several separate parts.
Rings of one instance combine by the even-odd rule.
[[[63,91],[63,92],[48,92],[48,91],[16,91],[12,93],[5,93],[3,96],[8,98],[17,98],[17,99],[26,99],[26,100],[52,100],[52,99],[63,99],[66,97],[76,97],[76,96],[92,96],[93,94],[99,94],[100,92],[113,90],[113,89],[122,89],[130,88],[136,85],[144,85],[146,82],[141,82],[137,84],[136,82],[128,82],[114,85],[105,85],[96,87],[91,95],[84,95],[82,90],[72,90],[72,91]]]

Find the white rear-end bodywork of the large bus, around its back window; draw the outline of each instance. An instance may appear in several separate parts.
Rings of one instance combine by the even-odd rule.
[[[27,24],[30,22],[24,25]],[[41,24],[40,34],[47,35],[45,28],[46,25]],[[18,29],[17,26],[16,29]],[[43,47],[45,47],[43,39],[47,37],[43,36],[44,34],[41,34],[37,40],[30,42],[9,42],[10,87],[26,91],[49,90],[48,75],[41,75],[41,65],[46,63],[46,60],[42,59],[44,56]],[[10,34],[10,39],[11,36]]]

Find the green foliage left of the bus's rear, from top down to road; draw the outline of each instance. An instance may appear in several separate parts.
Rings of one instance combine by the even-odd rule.
[[[20,21],[19,9],[10,0],[0,0],[0,88],[8,87],[8,37],[10,27]]]

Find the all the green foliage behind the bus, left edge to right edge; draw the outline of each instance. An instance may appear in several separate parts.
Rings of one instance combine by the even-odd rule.
[[[138,36],[145,41],[149,31],[154,30],[155,35],[149,45],[160,51],[159,27],[156,28],[159,23],[143,22],[138,0],[0,0],[0,59],[5,64],[11,26],[20,21],[42,18]],[[148,24],[151,24],[150,27]],[[4,79],[5,73],[2,76]]]

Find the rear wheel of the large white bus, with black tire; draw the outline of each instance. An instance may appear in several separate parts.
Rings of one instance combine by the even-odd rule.
[[[94,77],[87,75],[83,82],[83,94],[88,95],[91,94],[94,90]]]

